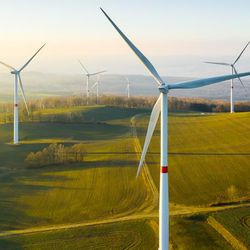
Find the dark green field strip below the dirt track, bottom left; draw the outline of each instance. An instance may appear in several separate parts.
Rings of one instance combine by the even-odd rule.
[[[0,239],[5,250],[158,249],[148,221],[132,221]]]

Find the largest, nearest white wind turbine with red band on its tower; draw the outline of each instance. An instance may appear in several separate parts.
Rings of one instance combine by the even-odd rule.
[[[250,72],[237,74],[211,77],[207,79],[193,80],[187,82],[169,84],[164,82],[160,77],[154,66],[150,61],[136,48],[136,46],[129,40],[128,37],[117,27],[111,20],[107,13],[101,8],[104,15],[114,26],[117,32],[121,35],[127,45],[133,50],[136,56],[148,69],[155,81],[158,83],[160,96],[156,101],[148,125],[146,139],[143,146],[143,151],[137,171],[137,176],[140,174],[141,168],[144,164],[145,156],[151,141],[157,120],[161,112],[161,174],[160,174],[160,206],[159,206],[159,249],[169,249],[169,194],[168,194],[168,92],[172,89],[193,89],[209,84],[214,84],[233,78],[244,77],[250,75]]]

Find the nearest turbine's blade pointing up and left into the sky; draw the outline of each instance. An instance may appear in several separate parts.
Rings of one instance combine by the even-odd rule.
[[[154,66],[151,64],[151,62],[141,53],[140,50],[136,48],[136,46],[125,36],[125,34],[118,28],[118,26],[111,20],[111,18],[108,16],[108,14],[101,8],[101,11],[104,13],[104,15],[107,17],[107,19],[110,21],[110,23],[114,26],[114,28],[117,30],[117,32],[121,35],[121,37],[124,39],[124,41],[128,44],[128,46],[134,51],[134,53],[137,55],[137,57],[141,60],[141,62],[145,65],[145,67],[148,69],[150,74],[153,76],[153,78],[156,80],[156,82],[159,85],[164,84],[164,81],[159,76],[158,72],[154,68]]]

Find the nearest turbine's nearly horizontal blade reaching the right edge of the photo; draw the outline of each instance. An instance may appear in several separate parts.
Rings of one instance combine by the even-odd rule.
[[[217,76],[217,77],[211,77],[211,78],[205,78],[200,80],[193,80],[193,81],[187,81],[187,82],[181,82],[181,83],[174,83],[169,84],[169,89],[193,89],[193,88],[199,88],[206,85],[218,83],[218,82],[224,82],[227,80],[239,78],[239,77],[245,77],[249,76],[250,72],[241,73],[237,75],[225,75],[225,76]]]

